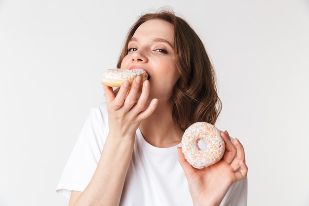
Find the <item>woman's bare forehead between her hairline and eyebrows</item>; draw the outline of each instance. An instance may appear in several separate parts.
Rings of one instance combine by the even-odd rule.
[[[161,19],[152,19],[141,24],[133,35],[134,39],[154,39],[160,38],[174,42],[174,26]]]

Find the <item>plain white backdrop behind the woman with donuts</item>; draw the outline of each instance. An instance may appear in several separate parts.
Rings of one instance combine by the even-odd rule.
[[[55,187],[104,101],[102,73],[137,17],[164,5],[212,59],[248,206],[309,205],[308,0],[0,0],[0,206],[67,206]]]

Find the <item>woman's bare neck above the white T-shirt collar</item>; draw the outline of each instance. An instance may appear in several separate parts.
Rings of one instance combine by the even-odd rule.
[[[184,131],[174,123],[173,106],[158,104],[154,113],[140,124],[144,139],[155,147],[172,147],[181,142]]]

